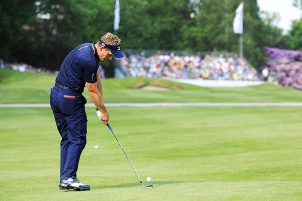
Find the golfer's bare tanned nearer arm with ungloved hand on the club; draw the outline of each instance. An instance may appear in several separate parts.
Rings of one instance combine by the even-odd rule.
[[[101,111],[101,120],[103,124],[108,124],[109,122],[109,114],[107,112],[107,108],[105,107],[104,104],[104,99],[102,97],[102,94],[100,93],[98,89],[98,82],[95,83],[89,83],[86,82],[90,98],[94,105]]]

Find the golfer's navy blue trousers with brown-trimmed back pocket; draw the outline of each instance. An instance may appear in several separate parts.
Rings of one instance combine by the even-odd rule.
[[[80,156],[86,145],[86,103],[81,92],[58,86],[51,89],[50,107],[62,137],[60,179],[77,178]]]

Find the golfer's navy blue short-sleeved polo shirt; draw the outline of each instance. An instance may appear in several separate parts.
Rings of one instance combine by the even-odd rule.
[[[95,43],[84,43],[66,56],[55,82],[83,92],[86,82],[97,82],[98,68],[99,56]]]

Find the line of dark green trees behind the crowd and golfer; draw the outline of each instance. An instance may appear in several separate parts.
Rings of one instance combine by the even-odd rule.
[[[260,13],[257,0],[120,0],[116,34],[122,49],[238,52],[233,19],[240,2],[243,54],[254,67],[265,61],[266,46],[301,48],[302,20],[284,35],[277,16]],[[1,1],[0,58],[58,69],[75,46],[114,33],[114,7],[115,0]]]

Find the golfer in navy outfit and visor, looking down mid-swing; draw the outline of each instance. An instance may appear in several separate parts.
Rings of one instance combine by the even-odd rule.
[[[107,33],[97,43],[84,43],[74,48],[64,59],[55,85],[51,88],[50,106],[62,137],[60,189],[90,190],[88,184],[80,183],[77,179],[87,134],[87,100],[82,92],[86,84],[92,102],[100,111],[100,120],[108,124],[109,114],[104,105],[98,62],[112,60],[113,56],[124,57],[120,43],[117,36]]]

